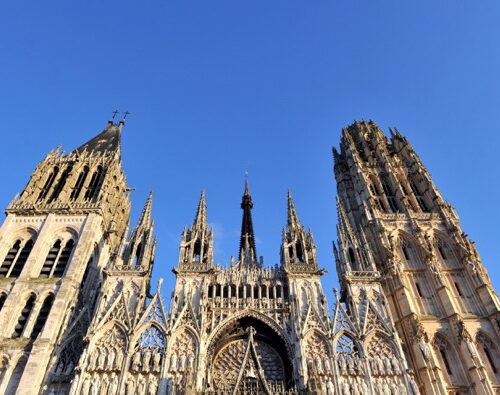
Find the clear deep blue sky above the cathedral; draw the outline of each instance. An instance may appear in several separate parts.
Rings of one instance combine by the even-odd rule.
[[[216,260],[237,255],[248,171],[258,254],[279,261],[290,189],[331,296],[331,147],[373,119],[413,143],[498,290],[499,17],[498,0],[3,1],[0,207],[128,110],[133,220],[153,190],[165,295],[202,189]]]

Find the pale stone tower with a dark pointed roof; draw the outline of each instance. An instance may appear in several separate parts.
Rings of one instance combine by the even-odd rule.
[[[50,152],[0,228],[0,393],[69,390],[94,314],[102,267],[130,211],[124,121],[69,154]]]

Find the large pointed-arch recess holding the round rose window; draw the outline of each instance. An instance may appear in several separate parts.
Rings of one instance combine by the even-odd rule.
[[[208,384],[215,393],[269,394],[293,387],[284,339],[255,317],[228,324],[212,340],[209,355]]]

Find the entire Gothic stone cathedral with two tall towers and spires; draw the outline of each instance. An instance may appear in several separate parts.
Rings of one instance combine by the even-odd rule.
[[[333,149],[329,307],[290,194],[279,264],[258,256],[248,181],[238,257],[214,262],[202,194],[171,299],[152,289],[153,196],[130,226],[124,124],[49,152],[6,208],[0,394],[500,393],[498,297],[399,131],[355,122]]]

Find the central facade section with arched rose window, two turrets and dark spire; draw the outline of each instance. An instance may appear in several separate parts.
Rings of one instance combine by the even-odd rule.
[[[333,394],[330,321],[312,235],[289,196],[282,262],[266,268],[257,259],[248,182],[241,208],[239,258],[227,267],[213,263],[204,194],[183,232],[167,330],[168,391],[293,394],[310,384],[327,391],[330,380]]]

